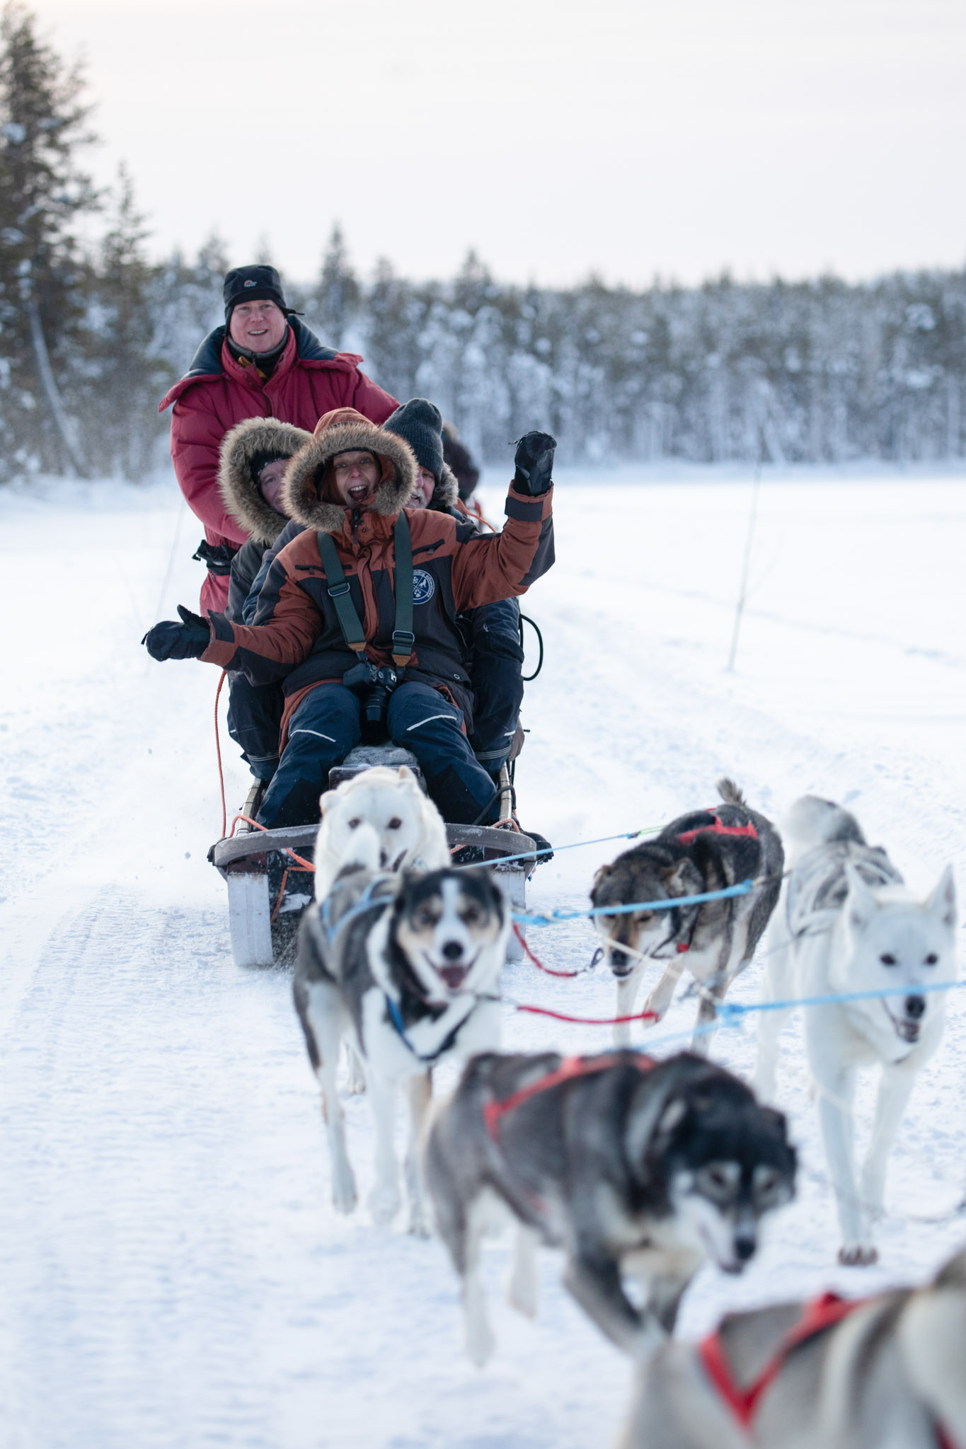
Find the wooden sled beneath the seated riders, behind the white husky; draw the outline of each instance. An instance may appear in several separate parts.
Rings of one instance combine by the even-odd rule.
[[[329,772],[329,788],[372,765],[390,765],[394,769],[408,765],[421,782],[416,756],[407,749],[388,743],[358,745]],[[261,788],[253,785],[245,801],[242,816],[249,820],[258,811]],[[504,765],[500,777],[500,820],[510,822],[511,811],[513,787],[510,771]],[[285,959],[295,926],[314,894],[311,872],[287,852],[293,851],[303,861],[311,862],[317,833],[317,824],[259,830],[242,819],[233,836],[216,840],[209,851],[209,861],[227,882],[229,929],[236,966],[271,966]],[[501,862],[507,856],[536,851],[537,845],[529,835],[505,826],[448,824],[446,838],[453,852],[471,848],[472,864],[494,867],[511,909],[526,907],[526,882],[533,861]],[[456,864],[462,864],[458,855]],[[518,961],[521,955],[523,945],[511,935],[507,956]]]

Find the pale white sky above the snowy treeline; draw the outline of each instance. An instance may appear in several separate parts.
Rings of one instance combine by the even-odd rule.
[[[152,249],[646,284],[966,264],[963,0],[33,0]]]

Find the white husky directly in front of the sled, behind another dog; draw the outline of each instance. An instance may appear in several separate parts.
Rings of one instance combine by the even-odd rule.
[[[322,824],[316,840],[316,900],[324,900],[342,869],[353,832],[365,822],[379,840],[379,869],[440,871],[449,865],[446,826],[420,790],[408,765],[374,765],[319,801]]]

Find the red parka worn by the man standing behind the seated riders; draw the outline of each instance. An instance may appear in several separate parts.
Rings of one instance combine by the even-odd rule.
[[[239,362],[224,341],[224,327],[209,333],[190,369],[162,398],[171,407],[171,459],[178,485],[204,525],[209,543],[240,545],[248,535],[224,511],[219,491],[219,449],[230,427],[246,417],[277,417],[313,432],[323,413],[355,407],[384,423],[398,407],[394,397],[359,371],[355,352],[333,352],[298,317],[288,319],[288,341],[266,380]],[[201,613],[227,606],[229,575],[209,572],[201,585]]]

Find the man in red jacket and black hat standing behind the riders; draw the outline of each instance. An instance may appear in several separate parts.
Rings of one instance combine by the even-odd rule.
[[[356,352],[320,343],[285,306],[274,267],[235,267],[224,278],[224,326],[210,332],[191,367],[162,398],[174,403],[171,459],[178,487],[204,523],[196,558],[209,565],[201,610],[227,606],[232,555],[246,533],[219,493],[222,439],[246,417],[277,417],[311,432],[323,413],[355,407],[382,423],[394,397],[359,371]]]

